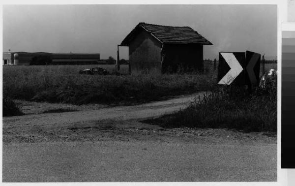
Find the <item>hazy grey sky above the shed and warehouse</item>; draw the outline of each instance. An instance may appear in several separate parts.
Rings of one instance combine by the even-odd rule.
[[[219,52],[277,56],[276,5],[3,5],[3,52],[100,53],[116,58],[117,45],[139,23],[189,26]],[[120,47],[128,59],[128,47]]]

